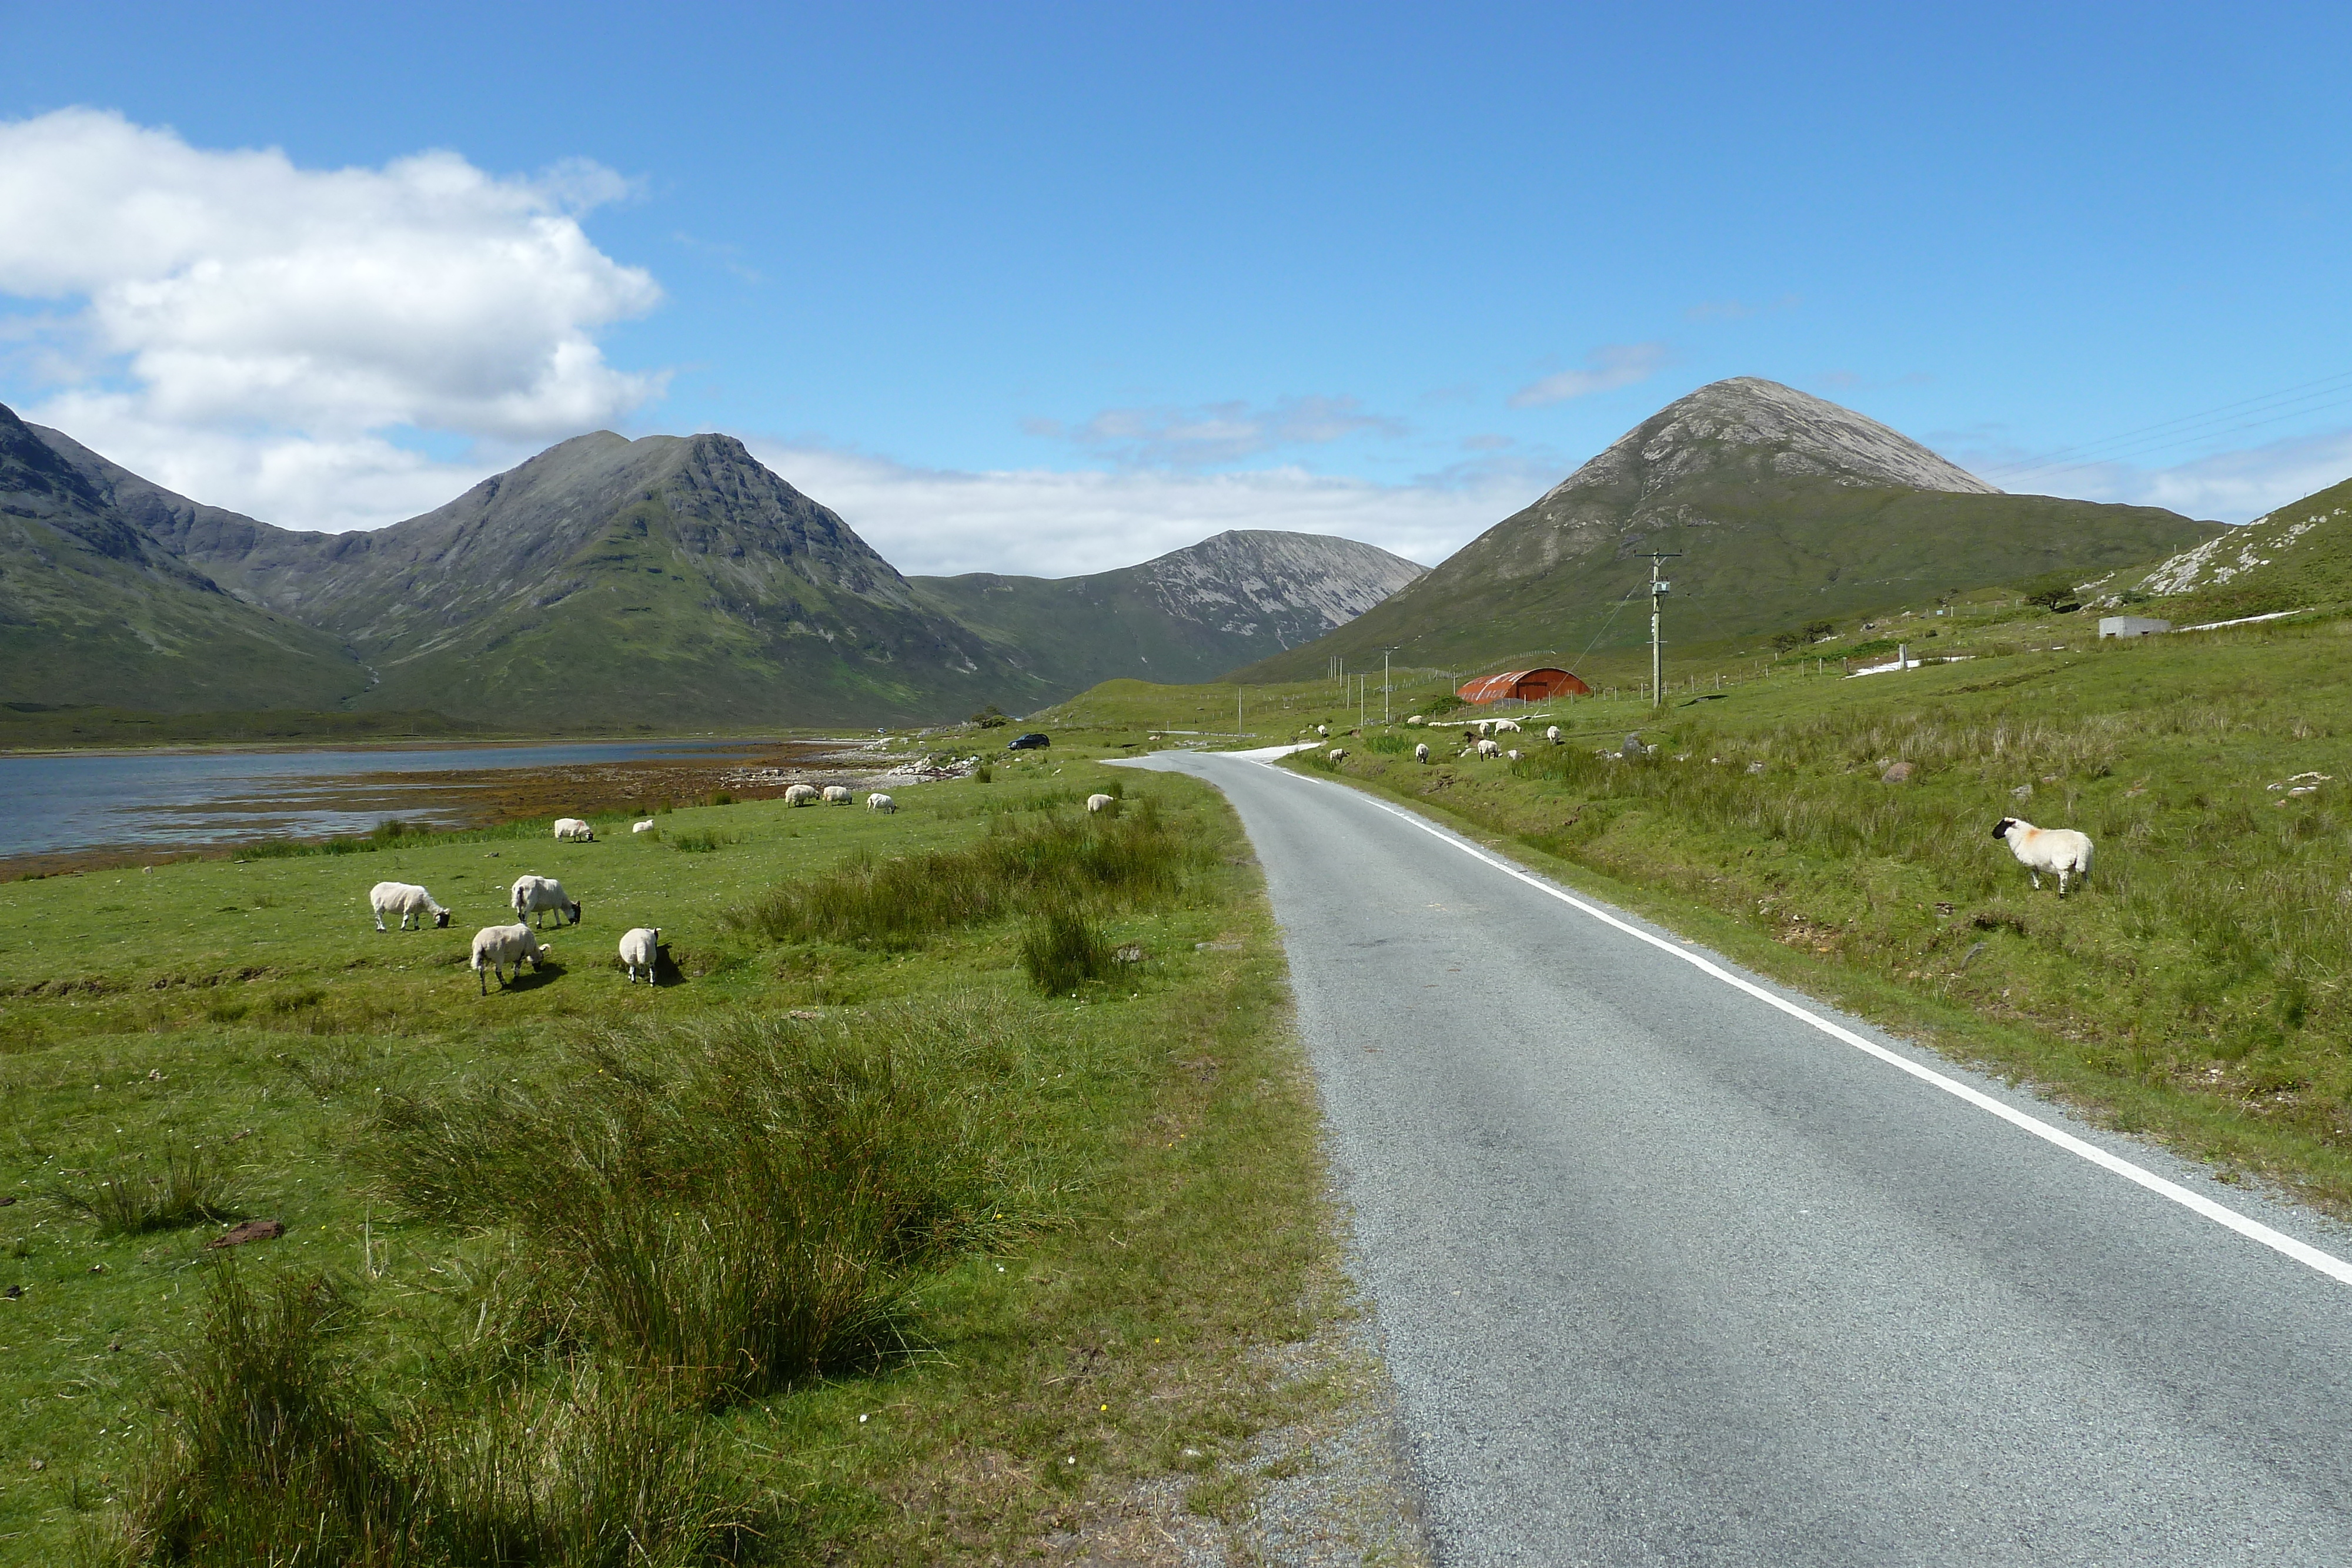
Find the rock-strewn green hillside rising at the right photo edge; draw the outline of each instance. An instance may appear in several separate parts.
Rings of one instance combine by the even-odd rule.
[[[2183,550],[2105,602],[2178,623],[2352,604],[2352,480]]]

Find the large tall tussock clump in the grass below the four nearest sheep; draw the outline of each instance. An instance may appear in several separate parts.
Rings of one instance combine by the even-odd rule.
[[[875,1361],[924,1272],[1004,1229],[1016,1041],[983,1001],[609,1034],[546,1095],[388,1098],[379,1164],[513,1229],[543,1333],[724,1406]]]

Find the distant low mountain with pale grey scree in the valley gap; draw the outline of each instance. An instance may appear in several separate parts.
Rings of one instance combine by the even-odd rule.
[[[1134,677],[1216,679],[1355,621],[1428,567],[1352,538],[1235,529],[1169,555],[1075,578],[908,578],[915,595],[1021,649],[1056,696]]]

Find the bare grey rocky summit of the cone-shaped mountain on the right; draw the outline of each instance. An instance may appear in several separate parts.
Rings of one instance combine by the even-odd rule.
[[[1778,381],[1731,376],[1665,404],[1552,487],[1543,501],[1628,484],[1658,491],[1717,473],[1962,496],[2002,494],[1865,414]]]

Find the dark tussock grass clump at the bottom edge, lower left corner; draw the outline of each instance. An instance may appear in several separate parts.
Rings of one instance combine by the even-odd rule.
[[[567,1363],[487,1408],[388,1418],[334,1354],[325,1274],[216,1265],[169,1429],[99,1556],[115,1563],[736,1563],[762,1519],[661,1385]]]

